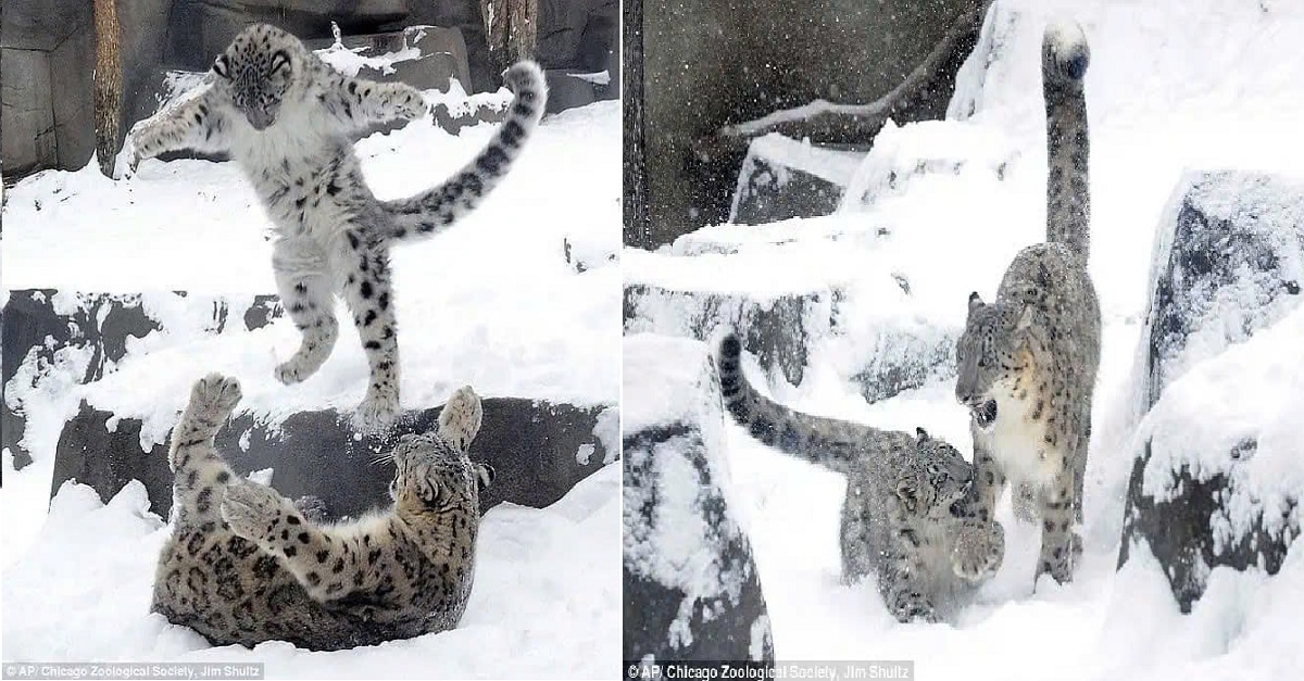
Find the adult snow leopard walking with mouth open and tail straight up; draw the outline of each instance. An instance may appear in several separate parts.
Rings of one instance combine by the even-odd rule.
[[[982,517],[1004,485],[1015,513],[1041,521],[1037,575],[1072,581],[1081,553],[1082,476],[1101,364],[1101,305],[1088,273],[1090,192],[1082,78],[1090,51],[1076,23],[1042,42],[1048,176],[1046,243],[1015,256],[995,303],[969,296],[956,399],[970,410]],[[1039,517],[1039,518],[1038,518]]]

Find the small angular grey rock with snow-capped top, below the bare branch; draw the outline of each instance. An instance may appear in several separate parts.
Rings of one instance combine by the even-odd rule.
[[[729,222],[763,224],[837,210],[863,153],[824,149],[777,133],[747,147]]]

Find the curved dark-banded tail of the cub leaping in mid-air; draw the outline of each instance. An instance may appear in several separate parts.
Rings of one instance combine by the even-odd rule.
[[[511,170],[529,134],[544,116],[548,83],[542,69],[533,61],[512,64],[505,80],[515,97],[507,108],[506,120],[480,154],[433,189],[413,197],[382,202],[395,222],[394,232],[389,235],[391,240],[420,239],[443,231],[479,207],[480,201]]]

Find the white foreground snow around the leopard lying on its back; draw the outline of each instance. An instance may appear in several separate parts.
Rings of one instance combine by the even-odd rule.
[[[5,569],[4,658],[262,661],[269,678],[597,678],[619,655],[619,483],[606,466],[546,509],[490,509],[456,629],[340,652],[210,647],[150,613],[167,527],[145,487],[104,505],[67,483],[35,545]]]

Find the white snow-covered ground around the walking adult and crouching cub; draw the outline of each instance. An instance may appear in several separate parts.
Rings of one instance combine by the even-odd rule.
[[[917,678],[939,680],[1286,680],[1304,668],[1297,624],[1304,543],[1295,541],[1273,578],[1215,569],[1187,616],[1148,551],[1133,551],[1133,560],[1115,570],[1138,432],[1136,352],[1157,226],[1184,168],[1304,176],[1304,4],[996,0],[978,55],[960,76],[952,117],[885,129],[838,214],[709,227],[655,253],[627,250],[626,277],[762,300],[845,291],[842,318],[852,326],[841,338],[808,339],[802,384],[789,386],[776,373],[776,397],[807,412],[884,428],[922,425],[968,450],[968,415],[953,398],[953,381],[934,380],[867,404],[849,380],[865,359],[854,339],[866,338],[858,330],[901,317],[957,331],[969,292],[991,300],[1012,256],[1045,239],[1039,48],[1046,21],[1065,16],[1084,25],[1091,44],[1090,269],[1104,325],[1078,577],[1069,586],[1047,578],[1034,588],[1039,532],[1013,519],[1007,494],[998,513],[1007,527],[1005,562],[979,603],[955,625],[897,624],[872,583],[838,583],[844,479],[764,447],[730,424],[730,501],[752,541],[780,659],[913,659]],[[909,282],[909,294],[897,278]],[[1299,316],[1273,331],[1189,377],[1197,382],[1183,393],[1188,398],[1163,417],[1217,419],[1211,407],[1239,399],[1202,394],[1197,401],[1198,381],[1235,385],[1254,404],[1273,395],[1286,401],[1279,425],[1260,433],[1281,447],[1264,475],[1292,472],[1257,483],[1281,489],[1297,485],[1301,471],[1299,461],[1282,461],[1299,451],[1290,442],[1290,414],[1299,414],[1304,384],[1299,363],[1286,360],[1292,334],[1297,352]],[[1257,395],[1254,377],[1271,377],[1271,394]],[[764,381],[759,373],[751,378]],[[1235,410],[1228,419],[1248,411]],[[1304,432],[1294,423],[1297,442]]]

